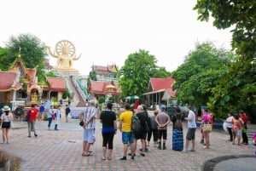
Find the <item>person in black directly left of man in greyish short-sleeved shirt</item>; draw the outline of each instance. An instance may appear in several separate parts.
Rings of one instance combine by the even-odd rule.
[[[154,140],[154,146],[157,145],[157,140],[158,140],[158,136],[157,136],[157,123],[155,122],[155,117],[157,116],[158,111],[154,111],[154,115],[150,116],[150,122],[149,123],[151,125],[151,129],[148,133],[148,146],[149,146],[149,142],[151,140],[151,136],[153,134],[153,140]]]

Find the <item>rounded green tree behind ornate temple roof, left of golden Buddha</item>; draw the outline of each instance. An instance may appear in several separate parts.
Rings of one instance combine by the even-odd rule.
[[[10,56],[8,56],[11,61],[14,61],[20,53],[26,67],[38,68],[38,82],[44,82],[44,57],[47,55],[47,51],[45,44],[38,37],[32,34],[20,34],[18,37],[12,36],[9,42],[6,43],[6,47],[11,52]],[[6,63],[6,65],[9,66],[11,63]]]

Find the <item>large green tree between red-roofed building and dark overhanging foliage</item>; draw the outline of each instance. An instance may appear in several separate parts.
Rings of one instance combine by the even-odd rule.
[[[184,60],[184,63],[172,72],[176,80],[177,102],[200,107],[207,105],[212,96],[210,88],[218,83],[219,76],[229,63],[230,54],[217,49],[212,43],[197,44]]]

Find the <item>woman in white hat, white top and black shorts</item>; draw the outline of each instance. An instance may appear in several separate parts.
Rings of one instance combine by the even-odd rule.
[[[11,128],[11,122],[13,122],[14,117],[10,111],[8,105],[4,105],[2,108],[1,115],[1,124],[2,124],[2,132],[3,132],[3,144],[9,144],[9,128]]]

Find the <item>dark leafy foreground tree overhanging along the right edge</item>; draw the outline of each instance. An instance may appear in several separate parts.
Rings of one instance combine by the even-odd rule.
[[[208,105],[222,116],[231,109],[255,109],[256,1],[198,0],[194,9],[198,11],[198,20],[208,21],[211,14],[213,26],[232,28],[231,45],[239,55],[218,86],[212,88],[214,98]],[[256,118],[255,111],[252,113]]]

